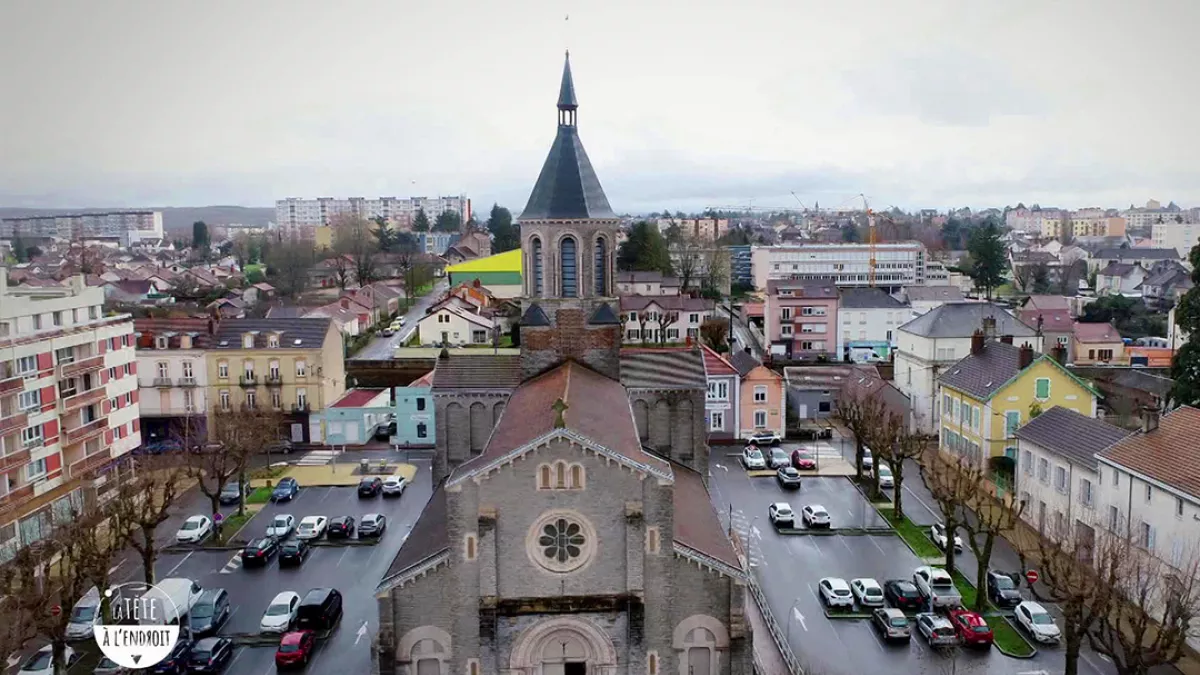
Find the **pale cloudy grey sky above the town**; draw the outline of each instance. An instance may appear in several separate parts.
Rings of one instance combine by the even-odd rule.
[[[0,205],[520,210],[565,47],[617,210],[1190,205],[1198,19],[1195,0],[5,0]]]

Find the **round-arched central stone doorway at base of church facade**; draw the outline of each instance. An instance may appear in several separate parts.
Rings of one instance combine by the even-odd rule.
[[[520,675],[616,675],[612,638],[586,619],[547,619],[517,638],[510,673]]]

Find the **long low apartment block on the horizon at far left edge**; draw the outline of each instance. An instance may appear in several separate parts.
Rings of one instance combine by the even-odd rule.
[[[0,220],[0,239],[106,239],[122,246],[162,241],[162,211],[103,211]]]

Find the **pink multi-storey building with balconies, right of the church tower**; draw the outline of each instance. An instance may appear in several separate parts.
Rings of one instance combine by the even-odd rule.
[[[838,287],[832,280],[768,281],[763,319],[773,356],[804,360],[838,357]]]

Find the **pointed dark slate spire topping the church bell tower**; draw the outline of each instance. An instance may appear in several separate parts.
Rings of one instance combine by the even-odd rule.
[[[558,135],[538,174],[529,202],[520,220],[614,219],[608,197],[600,186],[595,169],[580,142],[575,113],[575,80],[571,58],[563,64],[563,82],[558,90]]]

